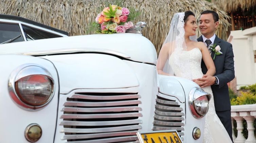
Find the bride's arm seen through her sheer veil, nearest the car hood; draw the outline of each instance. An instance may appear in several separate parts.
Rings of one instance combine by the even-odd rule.
[[[157,60],[158,74],[169,76],[169,74],[163,72],[164,65],[169,57],[169,51],[170,51],[169,49],[170,49],[170,44],[166,43],[165,45],[163,45],[163,47],[160,50],[158,60]]]

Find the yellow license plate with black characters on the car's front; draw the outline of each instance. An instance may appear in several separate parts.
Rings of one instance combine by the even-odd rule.
[[[176,130],[137,132],[140,143],[182,143]]]

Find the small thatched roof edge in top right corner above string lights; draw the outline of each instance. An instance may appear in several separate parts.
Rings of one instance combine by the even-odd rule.
[[[242,10],[256,6],[256,0],[215,0],[215,4],[227,12],[234,12],[241,6]]]

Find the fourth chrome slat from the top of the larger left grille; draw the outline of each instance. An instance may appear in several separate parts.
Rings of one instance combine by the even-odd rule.
[[[124,118],[142,117],[141,113],[119,113],[119,114],[63,114],[61,119],[93,119],[93,118]]]

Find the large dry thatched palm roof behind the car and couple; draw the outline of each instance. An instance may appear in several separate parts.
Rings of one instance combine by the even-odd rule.
[[[102,0],[1,0],[0,13],[20,16],[64,31],[70,35],[83,35],[98,14],[98,8],[105,6]],[[143,35],[159,52],[166,37],[174,13],[191,10],[197,19],[203,10],[214,10],[220,16],[217,35],[227,38],[229,18],[215,4],[205,0],[129,0],[123,6],[133,7],[141,12],[138,21],[145,21]],[[138,22],[136,21],[136,22]],[[198,35],[199,31],[197,31]]]

